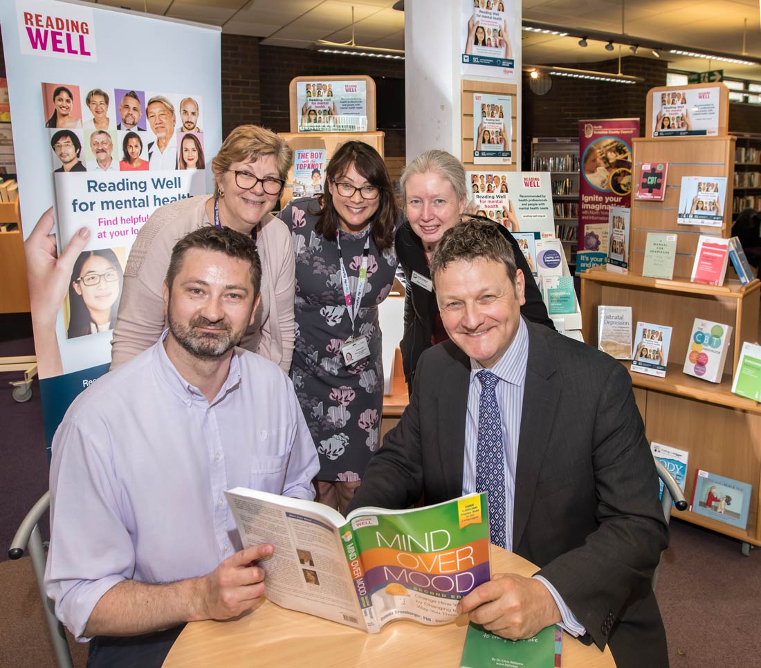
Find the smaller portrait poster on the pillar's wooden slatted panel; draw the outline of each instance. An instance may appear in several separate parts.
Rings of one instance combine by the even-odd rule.
[[[473,162],[512,164],[512,98],[473,93]]]

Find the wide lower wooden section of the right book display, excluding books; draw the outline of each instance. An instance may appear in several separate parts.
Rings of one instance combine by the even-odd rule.
[[[693,497],[696,470],[753,486],[744,529],[691,510],[683,520],[743,542],[761,546],[761,403],[731,393],[732,376],[743,341],[756,341],[759,331],[761,281],[747,285],[728,280],[722,286],[696,285],[686,278],[667,281],[607,272],[603,267],[581,275],[581,321],[584,341],[597,341],[597,307],[632,307],[632,321],[673,328],[665,377],[631,372],[635,399],[648,441],[689,452],[685,496]],[[683,373],[693,321],[704,318],[733,327],[728,361],[721,383]],[[622,364],[629,369],[629,361]],[[744,547],[744,546],[743,546]]]

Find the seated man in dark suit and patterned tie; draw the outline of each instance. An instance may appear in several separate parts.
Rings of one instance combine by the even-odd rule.
[[[492,576],[460,611],[505,638],[562,622],[610,643],[619,668],[665,668],[650,580],[668,531],[629,374],[521,318],[524,277],[496,224],[447,231],[431,275],[451,340],[422,354],[347,512],[489,491],[492,542],[540,570]]]

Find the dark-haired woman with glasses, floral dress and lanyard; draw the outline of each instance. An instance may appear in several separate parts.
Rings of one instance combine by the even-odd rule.
[[[291,202],[296,254],[296,349],[291,379],[317,452],[317,501],[343,511],[380,434],[384,373],[378,304],[396,270],[398,209],[383,158],[346,142],[325,192]]]

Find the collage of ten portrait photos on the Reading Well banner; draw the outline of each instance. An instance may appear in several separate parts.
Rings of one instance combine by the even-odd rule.
[[[203,170],[198,95],[42,84],[54,173]]]

